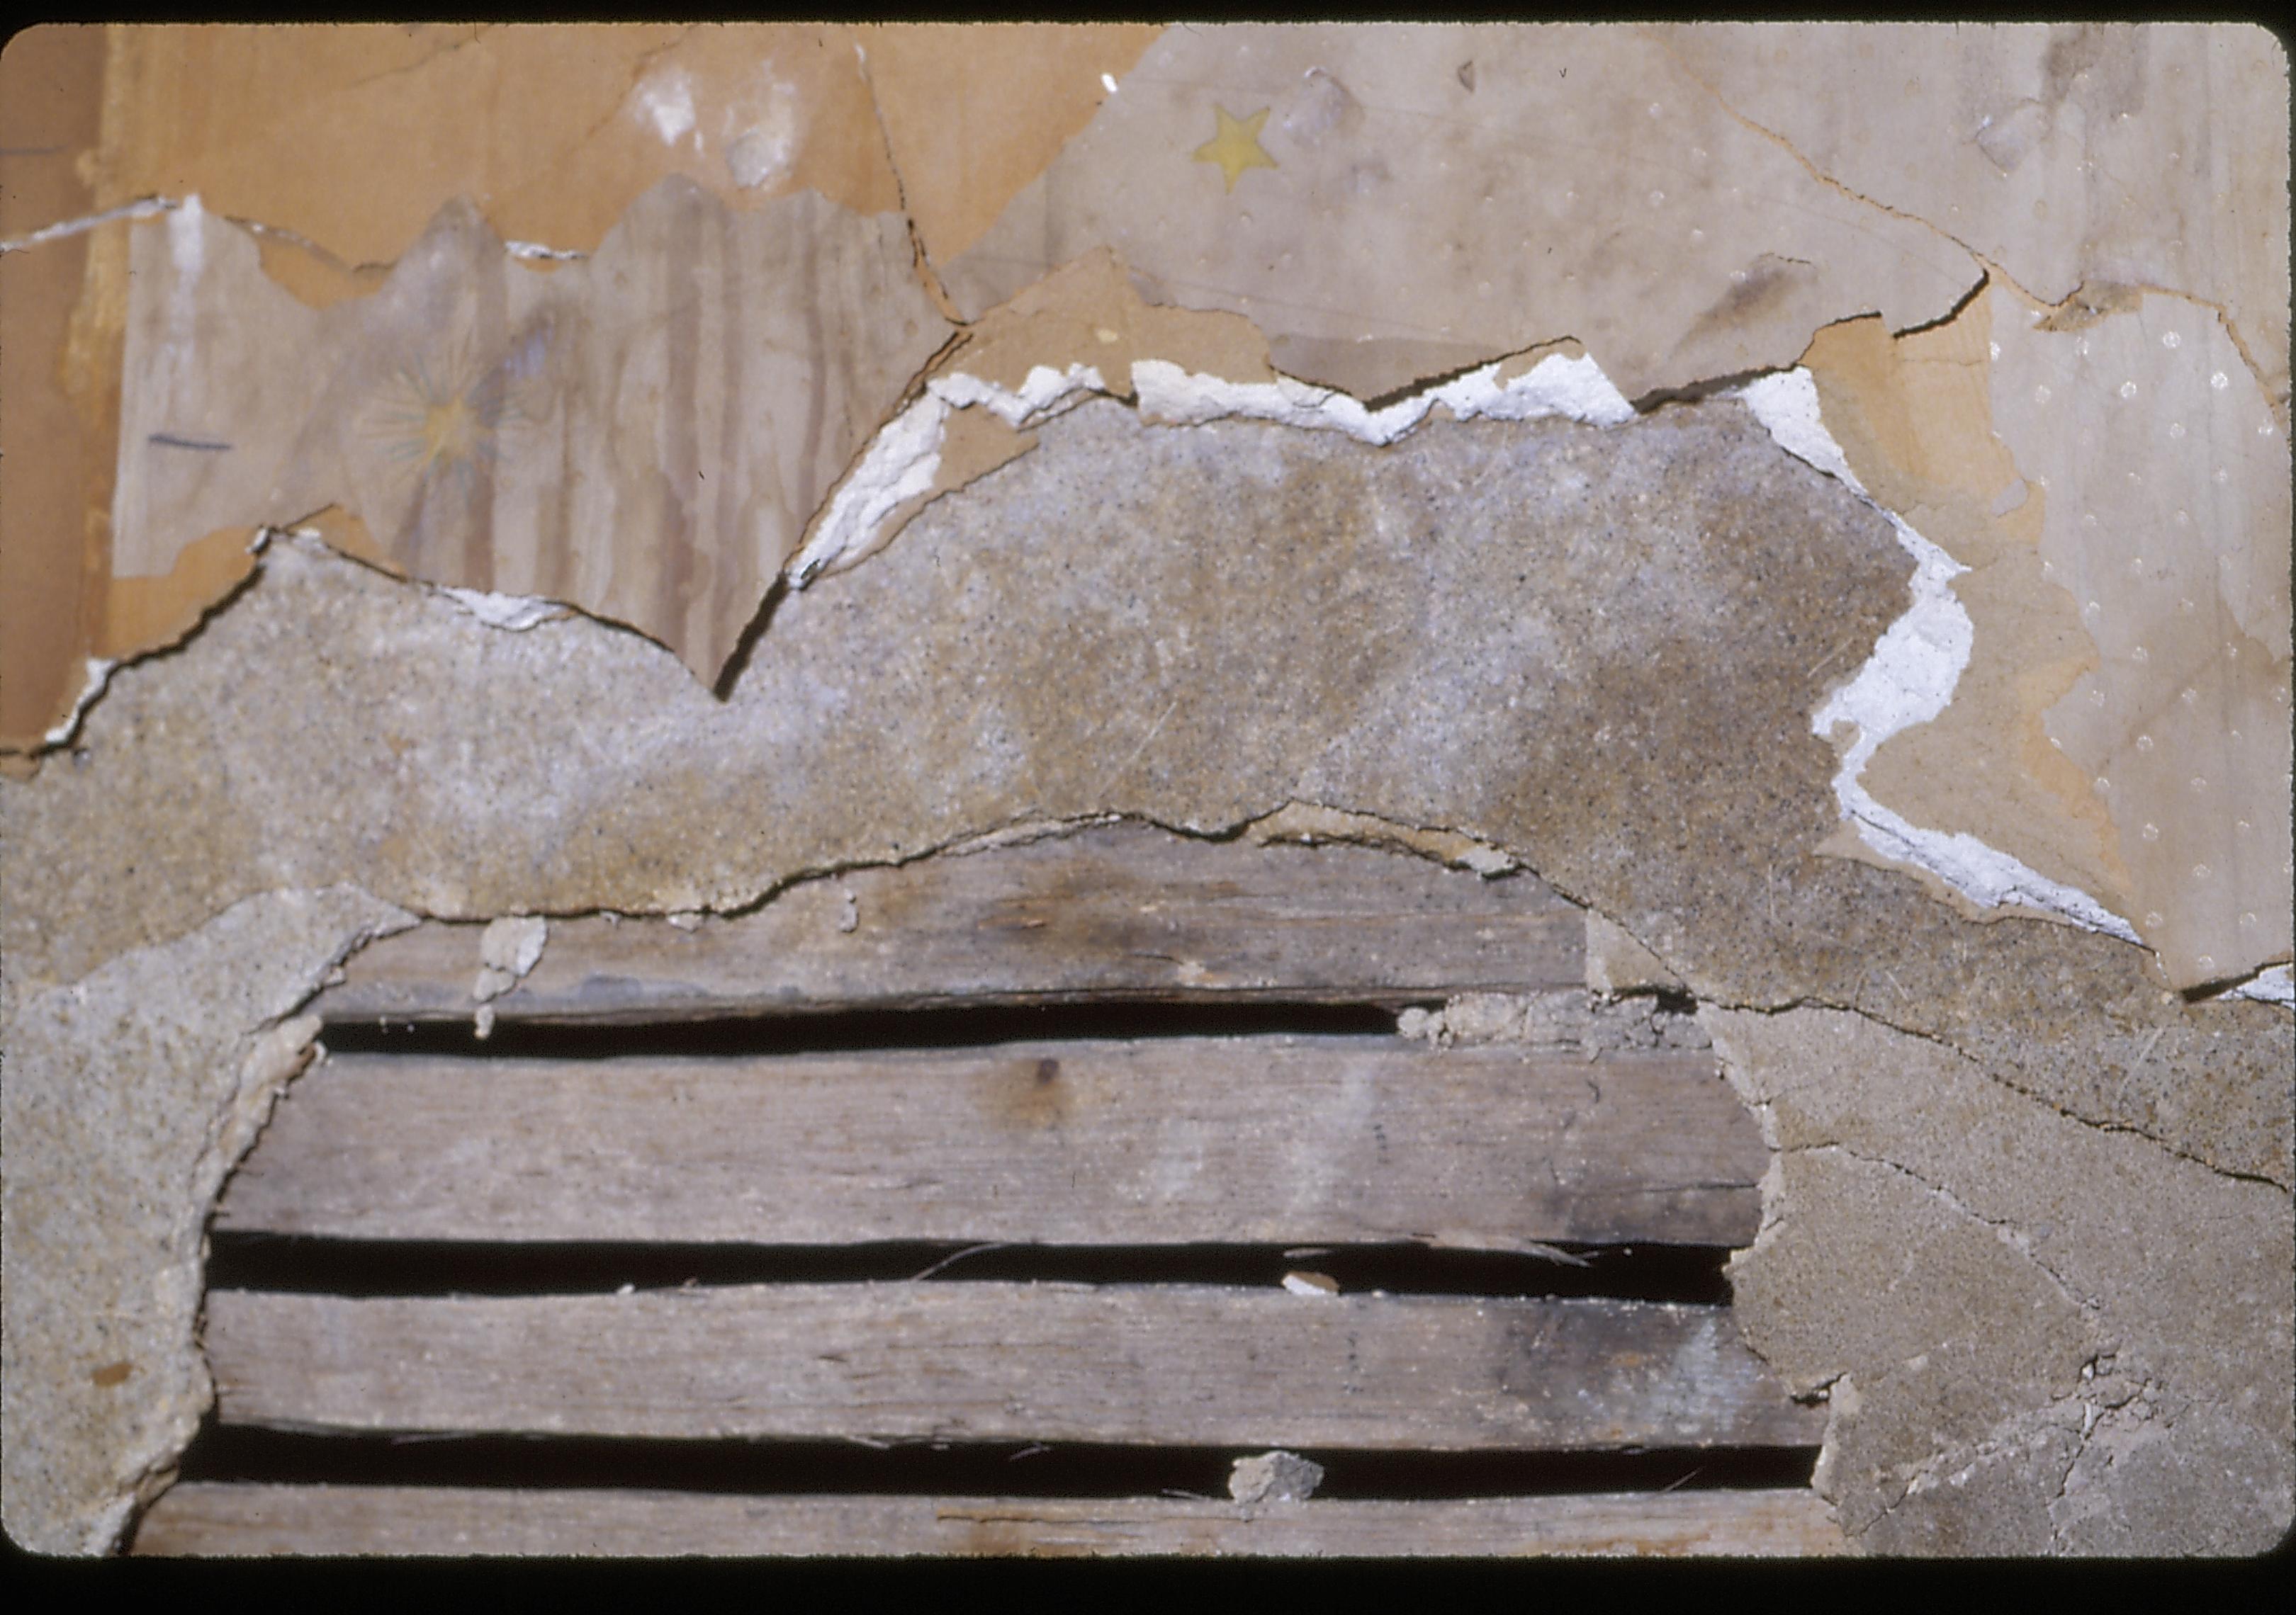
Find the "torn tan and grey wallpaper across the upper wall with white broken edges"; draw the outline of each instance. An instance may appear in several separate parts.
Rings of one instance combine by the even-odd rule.
[[[310,55],[296,94],[335,96],[331,115],[372,135],[402,128],[406,106],[427,96],[517,99],[510,85],[521,73],[572,48],[569,34],[551,30],[386,32],[358,37],[374,34],[377,60],[397,64],[390,96],[338,83],[354,44],[340,30],[308,41],[303,30],[262,39],[117,30],[106,69],[115,96],[106,179],[94,193],[103,206],[9,241],[41,250],[83,232],[135,243],[110,580],[115,592],[145,585],[149,601],[133,615],[152,624],[152,638],[115,635],[94,661],[181,635],[246,576],[243,567],[184,569],[197,546],[236,523],[298,521],[338,505],[360,553],[452,590],[487,622],[533,626],[574,606],[638,626],[714,681],[785,567],[804,585],[866,560],[925,502],[1026,452],[1033,427],[1086,397],[1132,399],[1159,422],[1254,418],[1362,443],[1398,440],[1435,404],[1456,418],[1616,422],[1632,413],[1630,399],[1649,408],[1671,390],[1745,369],[1770,372],[1750,401],[1779,399],[1777,372],[1825,321],[1880,307],[1894,328],[1938,314],[1963,326],[1970,314],[1954,301],[1986,273],[1995,287],[1979,305],[2002,310],[2023,296],[2011,275],[2027,275],[2041,296],[2080,291],[2039,312],[2020,305],[2014,321],[1995,314],[2004,358],[1993,420],[2027,473],[2011,493],[2027,489],[2016,498],[2030,498],[2046,525],[2043,576],[1961,555],[1965,523],[1947,521],[1945,541],[1933,541],[1936,512],[1892,514],[1919,562],[1917,601],[1816,718],[1821,730],[1841,718],[1857,727],[1837,780],[1844,812],[1869,856],[1926,869],[1981,906],[2144,936],[2183,986],[2236,980],[2289,954],[2289,869],[2255,851],[2287,840],[2287,766],[2273,766],[2287,727],[2289,633],[2285,266],[2255,250],[2285,241],[2285,193],[2268,184],[2285,177],[2285,154],[2213,138],[2209,122],[2220,117],[2218,101],[2229,108],[2223,117],[2252,117],[2273,94],[2285,106],[2285,62],[2255,30],[1775,34],[1805,67],[1837,62],[1839,83],[1860,87],[1860,110],[1899,147],[1936,154],[1908,172],[1910,190],[1874,165],[1871,133],[1812,112],[1823,99],[1779,99],[1777,60],[1786,57],[1756,50],[1770,32],[1733,28],[608,30],[565,80],[569,106],[604,108],[567,147],[583,172],[611,179],[588,200],[528,181],[505,190],[496,181],[523,172],[533,154],[494,154],[347,209],[340,190],[321,197],[271,177],[259,154],[278,138],[276,108],[200,124],[216,115],[202,71],[282,62],[282,50]],[[948,73],[951,53],[971,67]],[[1899,69],[1908,87],[1890,99],[1894,80],[1876,73]],[[994,87],[1031,73],[1047,87],[1042,108],[992,124]],[[1958,99],[1940,99],[1940,85]],[[186,119],[204,128],[188,147],[170,133]],[[537,131],[567,122],[560,108],[535,119]],[[934,119],[960,135],[934,140]],[[1596,149],[1559,128],[1607,128],[1614,140]],[[990,163],[990,151],[1001,156]],[[1538,161],[1525,163],[1525,151]],[[2220,213],[2262,206],[2268,220],[2262,234],[2248,223],[2229,236],[2218,229],[2209,239],[2223,250],[2193,257],[2195,229],[2216,225],[2177,213],[2179,234],[2163,245],[2167,225],[2147,225],[2122,202],[2105,234],[2092,229],[2082,245],[2073,213],[2094,225],[2103,202],[2078,174],[2099,154],[2135,165],[2115,158],[2124,186],[2186,195],[2206,179]],[[661,172],[673,179],[641,193],[647,165],[657,181]],[[473,186],[494,174],[478,186],[487,216],[425,190],[439,172]],[[1945,172],[1968,184],[1940,193],[1931,181]],[[214,213],[186,179],[211,184],[248,223]],[[122,195],[138,186],[158,195]],[[804,186],[820,195],[808,200]],[[2048,209],[2073,193],[2085,211]],[[599,197],[622,197],[611,206],[625,211],[604,211]],[[402,250],[388,232],[404,234],[418,200],[445,209]],[[852,284],[854,252],[829,243],[886,202],[909,213],[875,216],[875,266],[866,284]],[[158,216],[158,229],[138,223]],[[696,227],[748,243],[700,252],[705,280],[732,280],[698,344],[659,310],[604,344],[581,337],[608,307],[583,287],[620,287],[638,264],[654,301],[677,305],[696,266]],[[902,227],[912,241],[898,239]],[[806,317],[822,287],[850,291],[838,333],[815,333],[808,360],[813,379],[829,376],[845,397],[792,413],[788,399],[813,385],[804,376],[771,388],[732,379],[739,367],[680,379],[680,353],[691,372],[703,351],[739,351],[728,335],[732,310],[765,298],[742,280],[765,241],[813,255],[781,330]],[[1591,241],[1603,243],[1600,257],[1589,255]],[[902,264],[905,248],[914,248],[912,264]],[[298,291],[282,296],[273,271],[305,259],[333,268],[296,268],[285,284]],[[505,275],[505,262],[530,273]],[[321,284],[312,273],[340,282],[321,298],[326,310],[298,301]],[[2216,730],[2186,723],[2172,739],[2128,736],[2096,730],[2080,702],[2144,707],[2154,674],[2131,663],[2158,656],[2174,624],[2131,629],[2131,645],[2092,633],[2099,665],[2062,693],[2046,734],[2020,732],[2023,755],[2007,739],[1986,741],[2000,752],[1991,778],[2009,769],[2016,812],[1984,812],[1979,787],[1933,785],[1954,769],[1949,757],[1940,769],[1933,752],[1945,741],[1924,732],[1970,746],[1972,725],[1998,723],[2004,670],[2020,679],[2023,707],[2011,713],[2020,725],[2037,720],[2037,693],[2050,679],[2073,677],[2062,672],[2062,652],[2046,665],[2016,663],[2009,647],[2027,619],[2018,613],[2041,622],[2046,599],[2078,592],[2085,615],[2131,622],[2092,564],[2099,537],[2064,530],[2073,518],[2062,514],[2064,482],[2103,475],[2066,461],[2066,445],[2110,422],[2085,413],[2101,404],[2066,381],[2062,340],[2087,353],[2122,342],[2119,321],[2158,323],[2156,307],[2177,298],[2147,287],[2177,278],[2190,287],[2186,323],[2197,321],[2188,358],[2206,356],[2193,374],[2216,379],[2204,401],[2252,404],[2262,422],[2262,443],[2220,459],[2216,482],[2225,486],[2229,470],[2229,491],[2209,493],[2197,518],[2218,551],[2213,599],[2245,635],[2248,663],[2206,670],[2179,652],[2183,672],[2209,672],[2186,681],[2179,700],[2223,709]],[[971,323],[930,312],[944,282]],[[854,353],[854,335],[882,333],[895,305],[902,340]],[[360,406],[349,392],[377,395],[388,381],[390,365],[372,349],[390,346],[390,330],[411,330],[409,310],[448,337],[439,353],[395,360],[409,397],[397,411],[402,440],[383,443],[390,434],[365,420],[377,397]],[[503,335],[489,321],[507,321]],[[328,390],[289,397],[278,388],[282,374],[324,369],[310,356],[344,342],[326,333],[354,328],[363,335],[349,337],[351,358],[335,360]],[[953,342],[925,369],[944,337]],[[1575,340],[1568,353],[1557,351],[1566,340]],[[567,342],[590,358],[567,358]],[[2064,372],[2055,383],[2025,374],[2037,342],[2055,342],[2046,360]],[[2124,390],[2158,360],[2131,358]],[[2167,385],[2174,374],[2142,385]],[[664,438],[659,415],[650,431],[631,385],[680,395],[698,436],[714,429],[719,447]],[[2060,404],[2037,406],[2050,388]],[[2197,420],[2197,404],[2181,411],[2172,434]],[[289,434],[294,415],[317,427]],[[585,415],[613,431],[585,443]],[[2213,424],[2209,434],[2223,440]],[[631,454],[645,438],[652,463]],[[264,440],[292,443],[285,463],[262,459]],[[546,463],[553,443],[556,463]],[[1864,438],[1855,443],[1867,452]],[[2154,452],[2177,454],[2131,440],[2112,459],[2142,463]],[[406,475],[409,459],[416,475]],[[1821,459],[1867,486],[1839,445]],[[705,493],[705,482],[716,486]],[[2195,493],[2174,516],[2165,493],[2149,496],[2149,518],[2186,518]],[[599,539],[606,548],[567,553],[590,544],[572,537],[576,528],[611,530]],[[2133,564],[2151,562],[2135,555]],[[2200,599],[2193,580],[2181,587],[2181,599]],[[170,592],[184,599],[161,608]],[[2241,647],[2225,649],[2229,663]],[[1970,711],[1984,718],[1954,704],[1979,674]],[[78,688],[85,707],[101,684]],[[73,727],[76,716],[60,709],[39,743]],[[2255,755],[2227,755],[2227,741]],[[2037,743],[2053,755],[2032,752]],[[2071,782],[2076,769],[2089,785]],[[2227,805],[2195,812],[2174,796],[2179,785]]]

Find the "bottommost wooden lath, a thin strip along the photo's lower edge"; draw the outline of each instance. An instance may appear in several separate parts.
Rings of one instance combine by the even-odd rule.
[[[425,1487],[170,1489],[138,1555],[962,1555],[1444,1558],[1823,1555],[1812,1491],[1194,1503],[1185,1498],[840,1498]]]

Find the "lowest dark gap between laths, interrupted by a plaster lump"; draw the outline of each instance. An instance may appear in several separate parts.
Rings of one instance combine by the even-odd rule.
[[[1228,1470],[1261,1448],[902,1441],[622,1441],[606,1436],[409,1436],[220,1425],[209,1415],[181,1480],[338,1487],[521,1487],[732,1496],[1022,1496],[1228,1500]],[[1642,1452],[1364,1452],[1306,1448],[1318,1498],[1522,1498],[1598,1491],[1807,1487],[1814,1448]]]

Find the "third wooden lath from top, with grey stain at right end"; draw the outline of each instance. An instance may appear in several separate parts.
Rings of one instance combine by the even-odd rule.
[[[285,1429],[1240,1448],[1816,1445],[1724,1308],[1010,1282],[218,1289],[218,1413]]]

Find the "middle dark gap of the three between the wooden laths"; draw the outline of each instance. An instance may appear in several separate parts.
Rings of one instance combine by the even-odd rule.
[[[1584,1266],[1511,1250],[1384,1246],[859,1246],[455,1243],[216,1232],[209,1289],[328,1296],[565,1296],[682,1285],[870,1280],[1281,1287],[1290,1271],[1343,1294],[1609,1296],[1729,1305],[1720,1246],[1564,1246]]]

